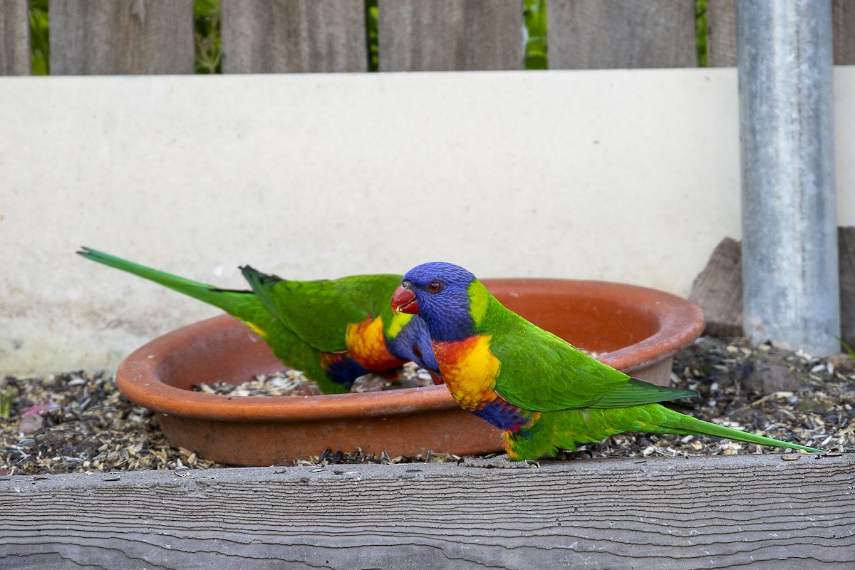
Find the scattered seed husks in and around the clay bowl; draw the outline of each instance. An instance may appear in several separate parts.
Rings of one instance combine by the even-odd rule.
[[[675,356],[672,381],[700,392],[694,415],[771,438],[829,452],[855,451],[855,361],[845,354],[815,358],[769,344],[750,348],[743,338],[699,338]],[[429,384],[424,371],[408,368],[404,386]],[[357,391],[395,387],[363,379]],[[247,385],[202,386],[233,396],[315,393],[299,375],[264,377]],[[235,393],[237,392],[237,393]],[[0,380],[10,398],[0,417],[0,475],[81,473],[139,469],[225,467],[168,444],[154,415],[122,397],[113,376],[70,372]],[[0,412],[3,411],[0,402]],[[733,455],[769,448],[718,438],[622,434],[588,446],[593,457]],[[394,457],[318,450],[299,464],[456,461],[456,455]],[[566,454],[570,458],[578,454]],[[559,457],[561,458],[561,457]]]

